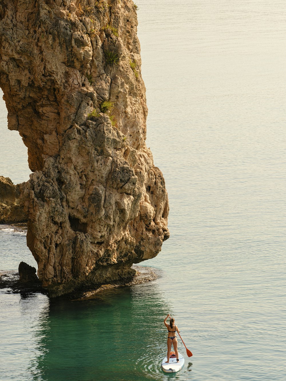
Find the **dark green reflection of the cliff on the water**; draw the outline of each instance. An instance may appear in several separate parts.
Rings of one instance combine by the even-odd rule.
[[[169,307],[155,283],[107,290],[88,301],[51,299],[35,336],[35,380],[165,379],[160,360]]]

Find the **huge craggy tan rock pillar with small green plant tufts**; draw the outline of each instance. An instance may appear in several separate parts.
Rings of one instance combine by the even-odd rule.
[[[0,86],[28,147],[27,245],[51,296],[129,279],[169,237],[164,178],[146,147],[130,0],[2,0]]]

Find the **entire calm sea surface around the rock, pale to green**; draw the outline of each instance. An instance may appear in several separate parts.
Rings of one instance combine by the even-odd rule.
[[[1,380],[284,381],[285,3],[136,3],[147,144],[170,198],[171,238],[145,264],[162,277],[84,302],[2,290]],[[0,174],[26,181],[0,113]],[[24,234],[0,231],[0,255],[17,269]],[[179,344],[177,375],[160,370],[167,313],[194,354]]]

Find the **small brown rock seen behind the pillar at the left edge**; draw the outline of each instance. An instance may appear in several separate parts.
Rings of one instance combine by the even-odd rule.
[[[23,184],[14,185],[8,177],[0,176],[0,224],[26,222],[27,211],[20,197]]]

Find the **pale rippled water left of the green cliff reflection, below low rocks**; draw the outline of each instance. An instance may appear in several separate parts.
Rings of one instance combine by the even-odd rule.
[[[36,359],[41,349],[39,339],[43,330],[42,319],[48,313],[48,299],[41,294],[22,298],[0,290],[0,379],[1,381],[32,379],[32,374],[41,380]]]

